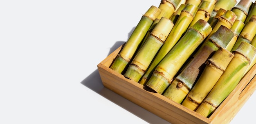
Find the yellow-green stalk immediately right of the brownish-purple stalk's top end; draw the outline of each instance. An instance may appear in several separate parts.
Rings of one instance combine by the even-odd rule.
[[[229,44],[226,46],[226,49],[231,51],[234,45],[236,44],[236,41],[238,39],[238,36],[240,35],[241,31],[243,30],[245,24],[240,20],[235,20],[234,24],[231,26],[230,30],[234,33],[233,39],[229,42]]]

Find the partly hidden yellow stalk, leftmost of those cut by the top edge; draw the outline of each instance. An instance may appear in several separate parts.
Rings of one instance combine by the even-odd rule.
[[[161,13],[158,15],[158,19],[162,17],[170,18],[171,15],[175,12],[177,5],[180,3],[180,0],[161,0],[158,8],[161,10]]]

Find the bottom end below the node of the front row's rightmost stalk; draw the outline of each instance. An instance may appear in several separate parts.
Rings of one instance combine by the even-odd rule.
[[[208,102],[202,102],[198,109],[195,110],[195,112],[199,113],[200,115],[204,117],[210,117],[211,114],[216,110],[217,107],[214,107],[213,104],[209,104]]]

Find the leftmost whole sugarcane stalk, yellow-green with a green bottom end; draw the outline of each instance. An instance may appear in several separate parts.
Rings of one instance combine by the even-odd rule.
[[[115,70],[119,74],[123,74],[126,71],[126,68],[128,67],[141,41],[160,12],[160,9],[155,6],[151,6],[148,11],[142,15],[141,20],[130,35],[128,41],[126,41],[126,44],[110,66],[112,70]]]

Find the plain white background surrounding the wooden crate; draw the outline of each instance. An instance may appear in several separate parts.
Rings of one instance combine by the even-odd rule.
[[[103,87],[97,64],[160,0],[2,0],[0,124],[169,124]],[[252,124],[256,94],[230,124]]]

